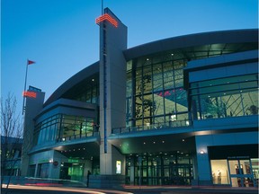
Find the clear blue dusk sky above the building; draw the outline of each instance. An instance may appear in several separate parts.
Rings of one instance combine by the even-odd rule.
[[[1,96],[22,113],[29,85],[45,101],[69,77],[99,60],[101,0],[1,0]],[[206,31],[258,28],[258,0],[103,0],[128,26],[128,48]]]

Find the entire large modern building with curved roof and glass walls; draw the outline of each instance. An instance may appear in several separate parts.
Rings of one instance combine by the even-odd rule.
[[[93,187],[257,186],[258,29],[127,48],[111,10],[96,22],[100,60],[44,103],[40,90],[27,98],[22,175],[86,182],[89,170]]]

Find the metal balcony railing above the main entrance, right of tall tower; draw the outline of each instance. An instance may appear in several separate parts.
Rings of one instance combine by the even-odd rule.
[[[156,123],[156,124],[146,124],[136,127],[122,127],[122,128],[112,128],[112,134],[121,134],[121,133],[131,133],[145,130],[158,130],[164,128],[186,128],[192,125],[191,120],[174,120],[168,121],[165,123]]]

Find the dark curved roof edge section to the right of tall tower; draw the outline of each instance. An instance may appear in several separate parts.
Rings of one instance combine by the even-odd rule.
[[[126,60],[170,49],[188,48],[216,43],[258,42],[258,29],[210,31],[156,40],[124,50]]]

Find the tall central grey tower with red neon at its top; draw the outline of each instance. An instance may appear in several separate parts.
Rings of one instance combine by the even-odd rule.
[[[107,137],[112,128],[125,126],[126,60],[122,51],[127,49],[127,26],[108,8],[96,22],[100,25],[100,171],[105,179],[114,180],[116,162],[121,162],[121,175],[125,174],[125,158]]]

